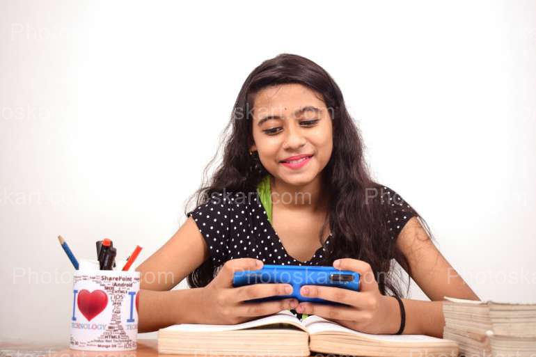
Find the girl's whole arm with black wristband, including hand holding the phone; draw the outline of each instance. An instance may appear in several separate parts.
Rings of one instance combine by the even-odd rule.
[[[407,257],[411,277],[432,300],[404,299],[406,324],[404,334],[423,334],[443,337],[444,296],[478,299],[464,280],[439,253],[416,218],[410,219],[397,237],[397,246]],[[393,296],[382,295],[375,273],[368,262],[352,258],[341,258],[333,262],[340,270],[356,271],[361,274],[359,292],[340,287],[304,285],[300,293],[343,303],[347,306],[328,306],[321,303],[300,303],[296,311],[318,315],[326,319],[365,333],[397,333],[400,328],[400,306]]]

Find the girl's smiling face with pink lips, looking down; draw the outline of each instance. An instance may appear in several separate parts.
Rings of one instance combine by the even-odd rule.
[[[301,84],[282,84],[260,90],[253,103],[250,150],[271,175],[288,184],[313,182],[331,157],[331,116],[322,95]],[[295,156],[303,157],[289,159]],[[320,178],[320,176],[319,176]]]

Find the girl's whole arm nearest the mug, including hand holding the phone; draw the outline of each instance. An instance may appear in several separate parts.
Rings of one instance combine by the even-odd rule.
[[[262,267],[262,261],[249,257],[227,260],[205,287],[168,291],[210,259],[209,255],[190,216],[164,246],[136,269],[141,272],[139,332],[157,331],[172,324],[239,324],[297,306],[295,299],[244,303],[292,292],[292,285],[283,283],[232,287],[235,271]]]

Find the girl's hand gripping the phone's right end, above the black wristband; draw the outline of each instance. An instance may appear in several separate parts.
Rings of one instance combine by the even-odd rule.
[[[370,265],[362,260],[345,258],[333,262],[333,267],[359,273],[359,292],[340,287],[304,285],[301,287],[300,294],[345,303],[349,306],[303,302],[299,303],[296,311],[324,317],[324,319],[364,333],[396,333],[400,327],[400,312],[395,310],[399,308],[397,301],[392,296],[384,296],[379,292],[378,283]]]

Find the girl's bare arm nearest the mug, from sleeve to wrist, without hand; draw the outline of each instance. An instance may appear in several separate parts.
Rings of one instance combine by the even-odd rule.
[[[140,333],[180,323],[194,323],[200,288],[171,290],[209,257],[191,216],[164,246],[139,265]]]

